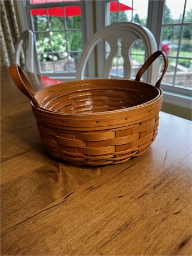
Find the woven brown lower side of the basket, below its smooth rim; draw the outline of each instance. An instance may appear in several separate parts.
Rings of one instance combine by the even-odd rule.
[[[37,123],[47,151],[72,164],[119,164],[143,154],[157,135],[159,116],[125,127],[70,132]]]

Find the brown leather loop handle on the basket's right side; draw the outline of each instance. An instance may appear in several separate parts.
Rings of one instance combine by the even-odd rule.
[[[168,69],[168,57],[166,56],[165,52],[162,52],[162,51],[156,51],[156,52],[152,53],[152,55],[149,58],[147,58],[144,65],[142,65],[142,67],[137,72],[135,81],[140,81],[142,74],[147,70],[147,68],[152,64],[152,62],[154,62],[156,60],[156,58],[159,57],[160,55],[163,55],[163,58],[164,58],[164,69],[161,74],[161,77],[155,83],[155,87],[160,88],[161,80],[163,79],[165,72]]]

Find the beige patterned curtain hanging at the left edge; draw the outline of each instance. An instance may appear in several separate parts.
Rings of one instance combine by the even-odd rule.
[[[19,30],[13,0],[1,0],[1,65],[14,64],[14,52]],[[21,64],[24,63],[23,52],[21,53]]]

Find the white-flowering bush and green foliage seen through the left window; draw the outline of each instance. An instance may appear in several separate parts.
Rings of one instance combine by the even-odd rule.
[[[63,17],[51,16],[50,17],[50,28],[47,27],[46,16],[34,16],[34,26],[36,31],[47,31],[36,34],[36,45],[38,53],[41,53],[41,61],[57,61],[59,58],[71,58],[67,56],[66,49],[69,51],[82,51],[82,35],[81,31],[67,31],[57,32],[58,29],[64,30],[64,19]],[[66,18],[67,29],[80,28],[81,27],[81,16],[72,16]],[[50,34],[50,35],[49,35]],[[67,36],[67,40],[66,40]],[[51,38],[51,41],[50,41]],[[53,51],[53,55],[50,53]],[[78,54],[73,55],[75,61],[79,57]]]

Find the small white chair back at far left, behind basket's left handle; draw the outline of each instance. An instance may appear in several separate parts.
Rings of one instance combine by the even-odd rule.
[[[29,72],[34,71],[34,63],[33,63],[33,49],[34,49],[34,36],[31,30],[26,30],[22,33],[22,35],[18,38],[16,45],[16,52],[14,56],[14,63],[20,66],[20,55],[22,50],[23,42],[26,43],[24,60],[26,69]]]

